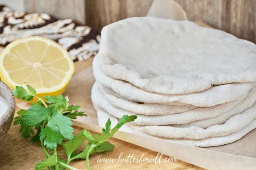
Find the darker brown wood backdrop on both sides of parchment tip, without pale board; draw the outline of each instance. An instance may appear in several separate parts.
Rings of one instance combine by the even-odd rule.
[[[190,21],[205,23],[256,43],[255,0],[175,0]],[[124,18],[145,16],[152,0],[86,0],[86,24],[102,28]]]

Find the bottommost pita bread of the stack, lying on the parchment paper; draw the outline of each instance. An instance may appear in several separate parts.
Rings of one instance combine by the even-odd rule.
[[[98,115],[98,122],[99,125],[103,128],[105,128],[105,123],[108,119],[111,119],[111,128],[114,127],[114,125],[117,124],[118,120],[114,116],[111,116],[108,114],[105,110],[97,106],[96,104],[93,104]],[[120,131],[125,131],[127,133],[141,135],[149,138],[156,138],[158,140],[166,140],[168,142],[174,142],[174,143],[181,143],[185,145],[192,145],[196,147],[211,147],[211,146],[221,146],[228,143],[233,143],[236,140],[241,139],[244,137],[247,133],[252,131],[256,128],[256,119],[254,119],[249,125],[245,126],[244,128],[240,129],[239,131],[222,136],[222,137],[209,137],[206,139],[200,139],[200,140],[190,140],[190,139],[166,139],[161,137],[154,137],[149,134],[145,134],[139,130],[130,128],[128,125],[123,125],[122,128],[120,128]]]

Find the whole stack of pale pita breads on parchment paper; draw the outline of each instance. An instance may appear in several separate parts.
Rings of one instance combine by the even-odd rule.
[[[256,128],[256,45],[191,21],[128,18],[103,28],[93,61],[99,124],[199,147]],[[127,128],[127,127],[126,127]]]

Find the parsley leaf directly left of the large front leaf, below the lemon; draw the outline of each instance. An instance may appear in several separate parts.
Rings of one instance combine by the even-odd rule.
[[[52,109],[34,105],[27,110],[28,114],[22,116],[21,124],[35,126],[43,120],[47,119],[52,114]]]

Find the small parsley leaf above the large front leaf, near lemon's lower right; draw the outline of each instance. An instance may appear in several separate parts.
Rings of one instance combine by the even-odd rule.
[[[58,110],[65,110],[68,108],[68,97],[64,97],[63,95],[57,96],[46,96],[46,103],[49,103],[49,107],[56,107]]]

